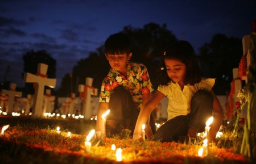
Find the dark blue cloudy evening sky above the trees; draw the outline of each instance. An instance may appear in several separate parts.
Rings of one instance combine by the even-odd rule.
[[[57,87],[65,73],[112,33],[131,25],[167,24],[177,39],[184,37],[198,53],[215,33],[242,39],[251,32],[256,1],[0,1],[0,81],[23,86],[22,56],[46,49],[56,59]],[[241,43],[242,44],[242,43]],[[241,54],[242,56],[242,54]]]

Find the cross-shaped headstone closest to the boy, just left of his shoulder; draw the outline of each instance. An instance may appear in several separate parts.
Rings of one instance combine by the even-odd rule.
[[[79,85],[79,92],[82,93],[82,98],[84,98],[82,106],[82,115],[84,115],[85,120],[89,120],[92,116],[92,109],[90,108],[90,96],[97,95],[98,90],[92,86],[93,78],[86,77],[85,85]]]

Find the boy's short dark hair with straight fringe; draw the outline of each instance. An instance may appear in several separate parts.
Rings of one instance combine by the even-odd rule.
[[[105,41],[105,54],[124,54],[131,52],[131,41],[124,33],[114,33]]]

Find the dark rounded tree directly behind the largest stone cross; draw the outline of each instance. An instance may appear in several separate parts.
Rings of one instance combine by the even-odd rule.
[[[23,72],[36,74],[38,73],[38,64],[43,63],[48,65],[47,77],[56,77],[56,61],[51,57],[45,50],[40,51],[29,51],[23,55]],[[22,73],[22,78],[24,77]],[[26,94],[34,94],[34,87],[32,83],[26,83],[25,85]]]

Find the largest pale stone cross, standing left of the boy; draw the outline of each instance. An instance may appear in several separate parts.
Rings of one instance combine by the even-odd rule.
[[[38,64],[38,73],[31,74],[25,73],[24,74],[24,82],[29,83],[36,83],[35,89],[35,103],[32,109],[32,117],[42,117],[43,116],[43,97],[44,97],[44,86],[48,86],[54,88],[56,85],[56,79],[47,78],[47,68],[48,65],[39,63]]]

